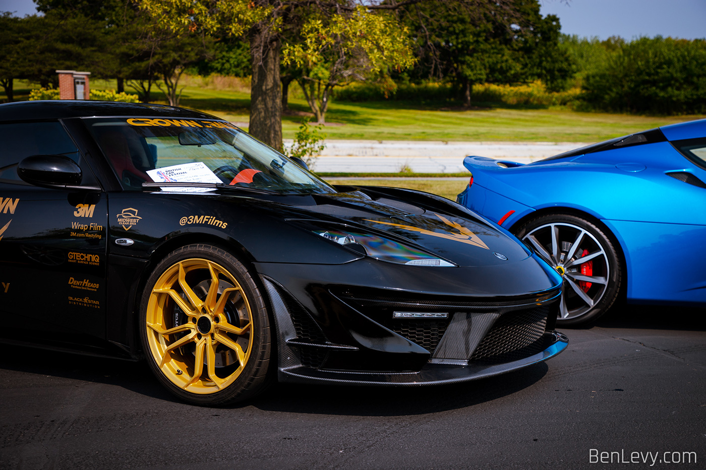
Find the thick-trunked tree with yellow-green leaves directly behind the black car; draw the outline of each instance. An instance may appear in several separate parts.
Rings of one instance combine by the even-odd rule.
[[[282,41],[285,40],[285,45],[290,47],[286,40],[300,35],[301,28],[311,24],[311,18],[317,15],[349,20],[354,15],[373,16],[379,11],[397,11],[421,1],[424,0],[140,0],[140,5],[160,24],[172,29],[219,31],[249,40],[252,64],[249,131],[263,142],[281,149]],[[472,9],[503,5],[509,0],[457,1]],[[329,23],[335,24],[333,21]],[[323,21],[322,25],[325,26]],[[325,30],[320,36],[309,35],[309,40],[315,42],[326,42],[327,38]],[[309,45],[304,49],[308,48]]]

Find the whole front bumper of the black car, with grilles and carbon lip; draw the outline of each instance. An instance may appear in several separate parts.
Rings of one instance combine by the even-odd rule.
[[[421,291],[409,290],[410,279],[397,284],[390,272],[379,278],[378,287],[369,287],[361,280],[371,279],[364,271],[375,264],[355,264],[316,270],[258,265],[275,320],[280,381],[460,382],[546,361],[566,348],[566,337],[554,332],[561,297],[554,277],[542,282],[535,277],[535,285],[544,287],[539,291],[478,296],[465,294],[473,282],[457,277],[473,269],[457,275],[438,270],[438,276],[426,277],[427,289]],[[450,277],[443,279],[443,273]],[[394,318],[400,311],[447,314]]]

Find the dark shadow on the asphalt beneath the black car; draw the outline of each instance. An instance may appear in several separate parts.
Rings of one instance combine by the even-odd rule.
[[[146,397],[182,403],[157,382],[145,362],[0,344],[0,369],[115,385]],[[505,397],[530,387],[547,370],[545,363],[539,363],[492,378],[429,387],[277,384],[255,399],[228,408],[254,406],[263,411],[356,416],[426,414]]]

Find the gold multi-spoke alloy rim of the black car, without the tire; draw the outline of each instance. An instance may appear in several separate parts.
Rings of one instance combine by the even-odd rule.
[[[174,263],[150,292],[145,325],[152,359],[172,384],[193,394],[224,390],[241,375],[253,349],[250,303],[218,263]]]

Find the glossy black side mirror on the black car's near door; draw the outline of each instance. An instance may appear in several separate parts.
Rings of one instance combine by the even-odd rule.
[[[66,188],[81,183],[81,169],[65,155],[31,155],[22,159],[17,174],[23,181],[44,188]]]

